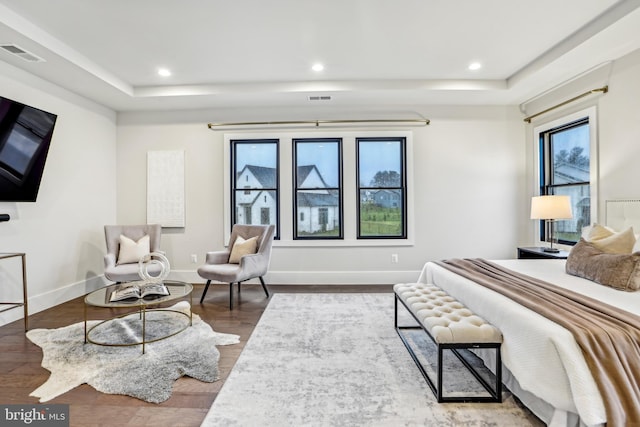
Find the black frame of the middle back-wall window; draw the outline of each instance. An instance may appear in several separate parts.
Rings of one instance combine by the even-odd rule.
[[[293,171],[293,204],[292,204],[292,218],[293,221],[293,240],[343,240],[344,239],[344,185],[343,185],[343,155],[342,155],[342,138],[293,138],[292,139],[292,171]],[[315,190],[333,190],[338,192],[338,234],[336,236],[301,236],[298,231],[298,192],[301,190],[314,190],[309,187],[298,187],[298,144],[317,144],[317,143],[332,143],[338,146],[338,187],[322,187],[315,188]],[[304,213],[304,212],[302,212]],[[311,216],[312,217],[312,216]]]

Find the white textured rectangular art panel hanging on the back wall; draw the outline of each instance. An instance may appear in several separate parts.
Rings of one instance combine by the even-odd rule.
[[[184,227],[184,151],[147,152],[147,223]]]

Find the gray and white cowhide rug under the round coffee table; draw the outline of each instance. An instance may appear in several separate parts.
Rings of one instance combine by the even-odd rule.
[[[189,303],[180,302],[172,309],[186,312]],[[147,336],[150,338],[175,331],[188,323],[185,316],[169,312],[148,312]],[[88,322],[89,326],[99,323]],[[96,329],[94,340],[134,342],[139,340],[141,321],[137,314],[118,319]],[[182,376],[200,381],[218,379],[217,345],[236,344],[237,335],[221,334],[196,314],[193,325],[162,341],[141,346],[107,347],[84,343],[84,323],[59,329],[34,329],[27,337],[42,348],[42,367],[49,379],[31,396],[46,402],[81,384],[89,384],[103,393],[133,396],[160,403],[171,397],[173,383]]]

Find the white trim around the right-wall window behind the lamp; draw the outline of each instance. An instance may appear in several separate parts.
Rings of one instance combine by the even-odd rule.
[[[533,187],[533,195],[538,196],[540,193],[540,134],[545,133],[553,128],[562,126],[567,123],[589,118],[589,197],[591,202],[591,223],[598,222],[598,121],[597,108],[592,106],[575,113],[554,119],[552,121],[542,123],[533,128],[533,159],[535,179]],[[534,221],[534,235],[536,246],[545,246],[548,242],[540,240],[540,222]],[[559,245],[560,248],[569,250],[571,246]]]

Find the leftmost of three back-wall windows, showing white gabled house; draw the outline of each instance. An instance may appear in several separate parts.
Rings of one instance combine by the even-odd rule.
[[[278,236],[278,140],[232,140],[231,165],[231,225],[274,224]]]

